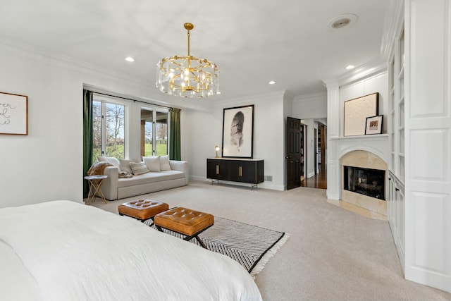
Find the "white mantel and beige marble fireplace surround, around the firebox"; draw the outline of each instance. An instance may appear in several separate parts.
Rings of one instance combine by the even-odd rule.
[[[337,199],[353,207],[370,211],[371,216],[375,216],[378,219],[386,219],[386,201],[343,189],[343,166],[373,168],[385,171],[385,199],[387,199],[388,135],[331,137],[329,146],[328,198]],[[332,185],[329,186],[329,183]]]

